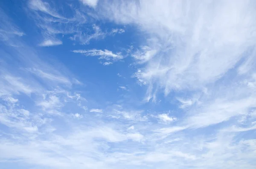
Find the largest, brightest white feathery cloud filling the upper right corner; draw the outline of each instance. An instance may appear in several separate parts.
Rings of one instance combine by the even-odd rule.
[[[146,42],[148,47],[135,54],[148,61],[137,77],[157,83],[166,94],[172,89],[200,89],[215,82],[255,45],[256,34],[251,36],[256,24],[253,1],[230,5],[141,0],[139,6],[134,1],[105,5],[105,17],[116,23],[137,24],[152,35]],[[250,15],[246,19],[241,17],[247,12]],[[161,52],[147,54],[148,48]]]

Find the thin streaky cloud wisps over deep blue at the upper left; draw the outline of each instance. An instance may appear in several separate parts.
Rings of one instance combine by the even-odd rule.
[[[70,18],[64,17],[63,13],[58,13],[60,6],[55,3],[47,3],[42,0],[30,0],[28,3],[30,11],[29,16],[35,21],[36,26],[41,29],[44,41],[39,44],[41,46],[53,46],[62,44],[61,40],[56,37],[57,34],[81,34],[81,27],[84,27],[87,17],[79,10],[75,10],[68,6],[67,8],[73,12]],[[74,36],[76,37],[76,36]],[[76,38],[75,38],[76,39]]]

